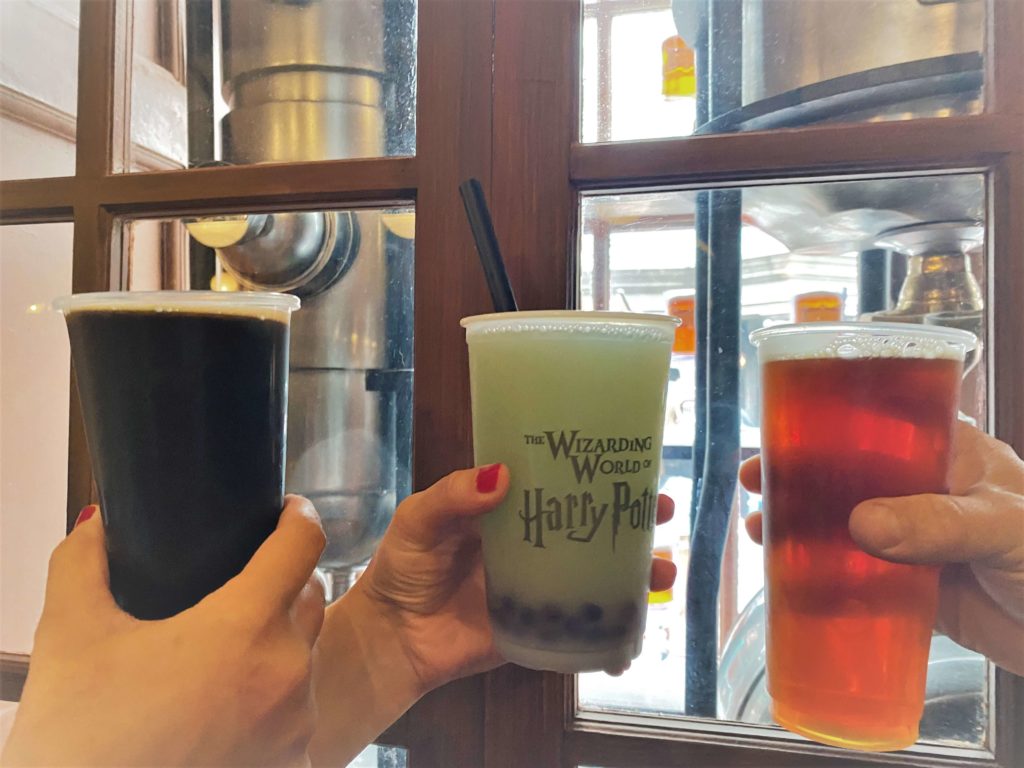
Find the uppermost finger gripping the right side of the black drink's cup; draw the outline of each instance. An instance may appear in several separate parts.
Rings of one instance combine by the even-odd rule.
[[[287,496],[278,527],[226,588],[256,595],[271,608],[287,608],[306,586],[326,543],[309,500]]]

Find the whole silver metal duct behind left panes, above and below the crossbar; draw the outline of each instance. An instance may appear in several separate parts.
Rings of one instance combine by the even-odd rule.
[[[383,0],[220,0],[219,20],[223,161],[386,154]],[[292,322],[286,489],[314,502],[328,535],[321,563],[342,587],[411,490],[412,243],[385,218],[313,211],[188,223],[241,287],[303,298]]]

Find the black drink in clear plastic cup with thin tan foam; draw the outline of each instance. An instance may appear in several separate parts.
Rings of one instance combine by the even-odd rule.
[[[133,615],[162,618],[194,605],[273,530],[297,304],[202,292],[61,303],[111,589]]]

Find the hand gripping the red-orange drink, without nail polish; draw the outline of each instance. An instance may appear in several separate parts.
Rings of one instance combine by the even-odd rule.
[[[761,459],[739,468],[761,493]],[[761,515],[746,518],[761,542]],[[961,645],[1024,674],[1024,462],[1009,445],[959,423],[949,495],[872,499],[850,515],[850,536],[885,560],[944,565],[938,628]]]

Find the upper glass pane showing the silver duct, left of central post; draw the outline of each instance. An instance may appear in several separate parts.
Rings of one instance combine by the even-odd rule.
[[[413,155],[416,0],[136,0],[132,170]]]

